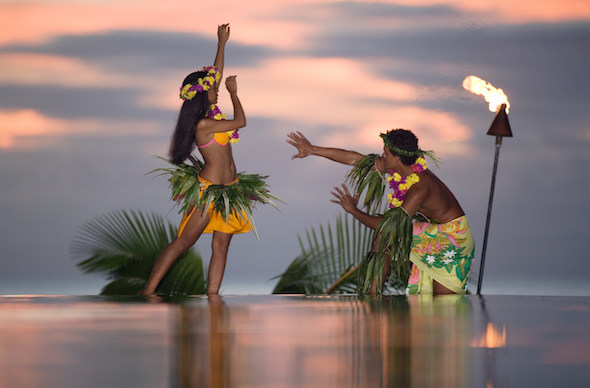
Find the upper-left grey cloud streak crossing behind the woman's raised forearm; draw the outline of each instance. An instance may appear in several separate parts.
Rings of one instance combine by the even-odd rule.
[[[45,54],[45,60],[52,61],[50,64],[61,58],[62,62],[75,60],[86,63],[87,67],[148,75],[154,71],[184,71],[212,64],[216,43],[216,39],[203,34],[120,30],[59,35],[43,43],[15,43],[0,48],[0,53],[13,57]],[[262,46],[233,41],[228,43],[228,50],[233,54],[231,63],[241,66],[253,65],[269,52]],[[43,55],[38,57],[39,63],[45,61]]]

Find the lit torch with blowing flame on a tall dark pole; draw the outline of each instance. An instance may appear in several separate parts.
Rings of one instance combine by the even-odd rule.
[[[477,295],[481,293],[481,285],[483,281],[483,269],[486,258],[486,248],[488,245],[488,232],[490,229],[490,216],[492,213],[492,202],[494,200],[494,187],[496,186],[496,171],[498,169],[498,157],[500,156],[500,146],[502,145],[502,137],[512,137],[512,131],[510,129],[510,123],[508,123],[508,109],[510,103],[508,98],[504,94],[502,89],[496,89],[491,84],[470,75],[463,80],[463,87],[468,91],[484,96],[485,100],[489,103],[490,111],[498,112],[492,125],[488,130],[488,135],[496,136],[496,154],[494,157],[494,169],[492,172],[492,184],[490,187],[490,199],[488,201],[488,214],[486,217],[486,228],[483,238],[483,246],[481,251],[481,265],[479,267],[479,279],[477,281]],[[498,110],[499,108],[499,110]]]

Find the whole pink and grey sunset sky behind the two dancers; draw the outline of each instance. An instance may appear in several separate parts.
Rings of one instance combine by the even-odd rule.
[[[291,160],[286,134],[381,152],[408,128],[467,213],[477,279],[495,113],[462,87],[476,75],[511,104],[483,291],[590,295],[590,3],[492,1],[0,0],[0,293],[94,294],[75,267],[82,224],[119,209],[173,223],[162,167],[189,72],[211,65],[230,23],[225,75],[248,118],[238,170],[269,175],[281,212],[259,207],[232,241],[222,293],[268,293],[297,235],[333,222],[348,171]],[[220,107],[232,115],[227,92]],[[210,236],[196,248],[208,261]],[[476,285],[469,285],[474,289]]]

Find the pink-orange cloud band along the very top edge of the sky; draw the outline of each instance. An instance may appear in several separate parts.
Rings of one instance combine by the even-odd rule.
[[[0,4],[2,34],[0,44],[43,42],[56,35],[84,35],[108,30],[148,29],[215,35],[218,23],[230,22],[232,39],[271,47],[297,47],[308,43],[311,33],[322,28],[329,14],[313,15],[305,20],[291,20],[293,9],[305,4],[321,6],[335,0],[260,0],[251,3],[217,0],[195,3],[191,0],[100,0],[39,3],[10,2]],[[586,0],[396,0],[392,4],[408,6],[448,5],[486,21],[501,23],[559,22],[590,19]],[[379,23],[379,18],[373,20]],[[391,27],[391,26],[389,26]]]

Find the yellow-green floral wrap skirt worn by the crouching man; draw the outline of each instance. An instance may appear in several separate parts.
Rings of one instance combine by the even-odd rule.
[[[432,294],[432,282],[436,280],[449,290],[464,294],[474,253],[475,243],[466,216],[446,224],[415,223],[408,292]]]

